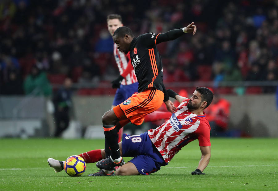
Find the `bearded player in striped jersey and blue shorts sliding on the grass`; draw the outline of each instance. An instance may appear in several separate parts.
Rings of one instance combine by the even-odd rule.
[[[191,174],[202,173],[210,160],[210,126],[204,109],[213,100],[213,93],[206,87],[196,87],[192,97],[187,99],[167,90],[170,97],[180,102],[178,108],[164,124],[156,129],[150,129],[141,135],[123,135],[123,141],[119,143],[121,156],[134,157],[126,164],[116,167],[116,175],[150,174],[165,166],[175,154],[189,142],[198,139],[201,150],[201,159],[197,169]],[[80,154],[86,163],[94,163],[105,157],[105,151],[92,150]],[[185,159],[186,160],[186,159]],[[48,163],[60,172],[65,161],[57,161],[49,158]],[[99,171],[101,176],[115,175]],[[88,176],[96,176],[96,173]]]

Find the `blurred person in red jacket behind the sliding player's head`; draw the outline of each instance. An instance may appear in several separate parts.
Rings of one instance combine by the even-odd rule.
[[[206,115],[211,127],[210,135],[226,136],[230,116],[230,102],[215,92]]]

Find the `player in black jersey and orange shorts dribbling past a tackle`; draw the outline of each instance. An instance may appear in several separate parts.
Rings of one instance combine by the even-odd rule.
[[[98,168],[112,171],[115,166],[124,164],[118,145],[118,129],[129,122],[135,125],[142,124],[145,115],[157,110],[163,101],[168,111],[175,110],[162,83],[162,61],[156,44],[177,39],[188,32],[192,32],[193,35],[196,33],[194,22],[181,29],[162,34],[146,33],[137,38],[128,27],[122,26],[115,30],[114,43],[119,51],[126,54],[130,52],[139,86],[137,93],[103,115],[104,135],[111,149],[111,156],[97,162]]]

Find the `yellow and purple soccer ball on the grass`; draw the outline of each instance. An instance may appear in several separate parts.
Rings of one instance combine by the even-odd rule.
[[[86,163],[81,156],[73,155],[65,161],[64,169],[71,177],[79,177],[85,172]]]

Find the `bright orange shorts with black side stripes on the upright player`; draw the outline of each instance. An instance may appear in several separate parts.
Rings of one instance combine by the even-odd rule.
[[[141,125],[147,114],[154,112],[162,105],[164,93],[154,88],[135,93],[123,103],[113,108],[114,113],[121,121],[128,118],[132,124]]]

